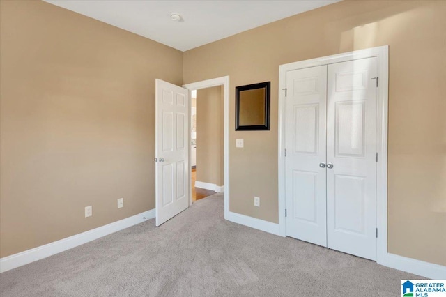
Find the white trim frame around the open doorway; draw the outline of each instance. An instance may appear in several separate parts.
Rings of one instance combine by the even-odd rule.
[[[224,218],[229,214],[229,75],[223,77],[217,77],[213,79],[202,80],[201,82],[192,82],[190,84],[183,84],[183,88],[189,90],[191,95],[192,90],[206,89],[213,86],[224,87],[224,114],[223,114],[223,151],[224,151]],[[192,96],[189,96],[189,100],[192,100]],[[191,103],[191,102],[190,102]],[[190,116],[189,116],[189,143],[190,143]],[[190,152],[189,152],[190,160]],[[189,184],[192,183],[192,177],[189,178]],[[189,206],[192,205],[192,187],[189,191]]]

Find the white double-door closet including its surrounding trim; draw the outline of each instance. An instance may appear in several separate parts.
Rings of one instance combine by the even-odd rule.
[[[283,236],[387,263],[387,47],[280,66]]]

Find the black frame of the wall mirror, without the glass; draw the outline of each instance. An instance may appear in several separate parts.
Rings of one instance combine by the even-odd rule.
[[[264,125],[240,125],[240,91],[248,91],[255,89],[265,89],[265,119]],[[271,82],[260,82],[258,84],[247,84],[246,86],[236,86],[236,131],[258,131],[270,130],[270,96]]]

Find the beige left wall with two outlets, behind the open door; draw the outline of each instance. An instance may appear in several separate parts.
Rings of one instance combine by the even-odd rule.
[[[0,2],[0,257],[155,208],[155,78],[181,84],[183,53],[43,1]]]

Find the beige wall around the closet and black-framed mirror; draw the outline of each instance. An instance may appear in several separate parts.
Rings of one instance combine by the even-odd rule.
[[[279,65],[389,45],[388,250],[446,265],[445,15],[446,1],[342,1],[185,52],[184,83],[230,76],[230,210],[278,221]],[[267,81],[271,130],[235,132],[235,86]]]

